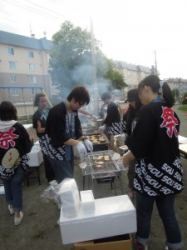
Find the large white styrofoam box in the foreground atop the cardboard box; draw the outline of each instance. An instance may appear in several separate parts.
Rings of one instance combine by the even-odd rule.
[[[80,208],[67,219],[61,210],[59,225],[63,244],[101,239],[136,232],[136,212],[127,195],[96,199],[94,214]]]

